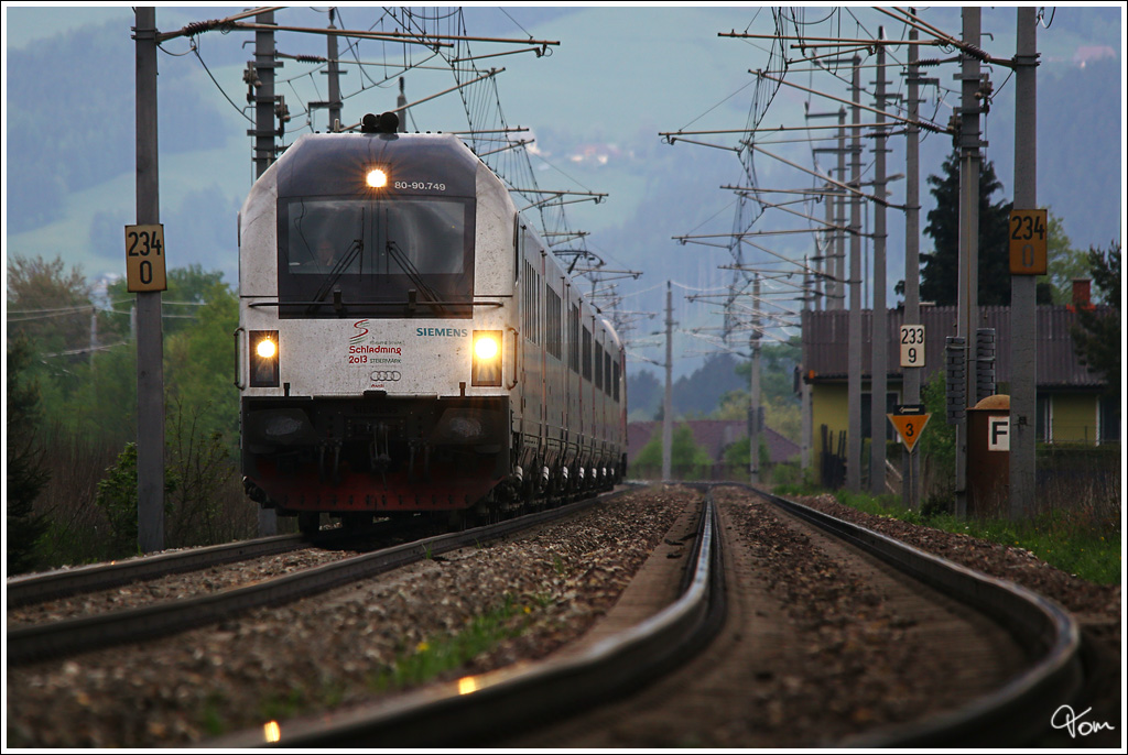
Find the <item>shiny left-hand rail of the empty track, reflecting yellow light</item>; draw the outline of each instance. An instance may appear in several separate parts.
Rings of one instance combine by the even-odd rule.
[[[725,618],[720,527],[712,498],[698,522],[680,597],[626,632],[587,651],[534,666],[502,668],[443,683],[361,711],[283,723],[272,744],[287,748],[472,747],[499,731],[558,720],[637,690],[703,648]],[[265,745],[245,730],[205,747]]]

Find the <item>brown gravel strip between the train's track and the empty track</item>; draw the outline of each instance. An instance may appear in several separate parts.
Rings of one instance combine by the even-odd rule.
[[[8,669],[15,747],[191,746],[388,692],[373,680],[405,655],[511,606],[523,629],[458,675],[544,657],[617,599],[699,494],[628,492],[528,538],[437,557],[219,628]],[[449,676],[449,675],[448,675]]]

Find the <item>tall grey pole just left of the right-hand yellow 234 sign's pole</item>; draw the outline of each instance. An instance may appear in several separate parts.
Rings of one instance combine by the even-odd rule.
[[[979,47],[981,8],[963,9],[963,43]],[[970,356],[975,344],[975,327],[979,312],[979,152],[986,143],[979,141],[979,114],[976,95],[980,86],[979,59],[963,53],[963,64],[957,79],[962,81],[960,100],[960,245],[959,296],[955,335],[963,338],[968,402],[976,396],[976,370]],[[963,417],[955,426],[955,513],[968,513],[968,423]]]

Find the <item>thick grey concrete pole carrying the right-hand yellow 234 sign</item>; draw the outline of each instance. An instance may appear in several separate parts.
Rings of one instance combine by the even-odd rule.
[[[1038,17],[1017,9],[1014,56],[1014,208],[1038,208]],[[1037,433],[1037,277],[1011,276],[1011,517],[1034,509]]]

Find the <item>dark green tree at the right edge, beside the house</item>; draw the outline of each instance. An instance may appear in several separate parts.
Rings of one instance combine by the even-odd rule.
[[[1105,391],[1120,393],[1120,245],[1089,250],[1089,268],[1100,292],[1102,309],[1078,309],[1073,328],[1073,347],[1077,358],[1104,378]]]

